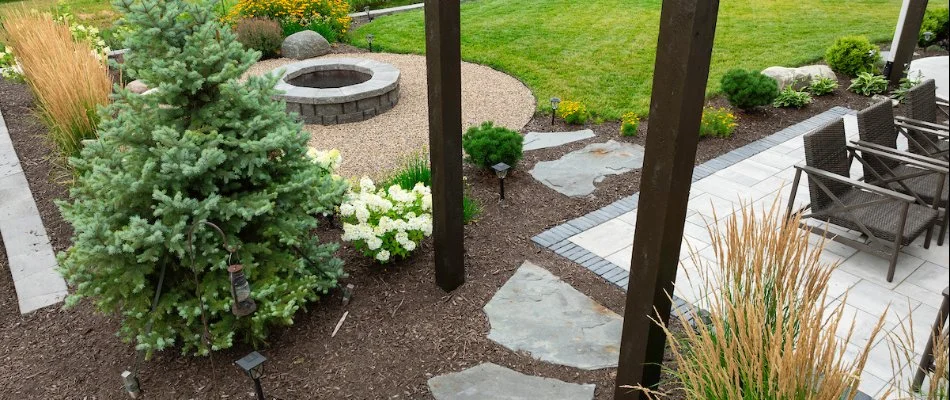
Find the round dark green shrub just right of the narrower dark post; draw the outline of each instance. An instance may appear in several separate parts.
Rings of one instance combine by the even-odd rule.
[[[482,168],[503,162],[512,167],[521,160],[524,137],[511,129],[483,122],[462,135],[462,148],[468,162]]]

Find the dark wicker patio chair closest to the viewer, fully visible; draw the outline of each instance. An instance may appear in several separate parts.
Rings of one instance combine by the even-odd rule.
[[[930,246],[937,210],[916,204],[912,196],[852,179],[842,120],[806,134],[804,141],[805,165],[795,166],[786,216],[794,212],[795,195],[804,174],[811,203],[798,210],[802,219],[816,219],[860,231],[867,240],[849,238],[821,227],[810,229],[836,242],[888,259],[887,281],[892,281],[903,246],[924,232],[927,232],[924,246]]]

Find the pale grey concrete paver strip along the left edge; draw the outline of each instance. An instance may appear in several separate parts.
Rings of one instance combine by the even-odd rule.
[[[59,303],[66,297],[66,281],[56,271],[56,256],[13,149],[3,114],[0,114],[0,236],[21,314]]]

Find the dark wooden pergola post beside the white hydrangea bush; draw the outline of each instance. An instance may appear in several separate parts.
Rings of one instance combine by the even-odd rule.
[[[459,1],[426,0],[425,23],[435,281],[448,292],[465,283]]]

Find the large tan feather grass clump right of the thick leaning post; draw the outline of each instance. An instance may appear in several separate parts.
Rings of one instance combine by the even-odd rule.
[[[704,322],[685,334],[663,327],[680,381],[673,386],[686,398],[840,400],[857,393],[870,345],[845,359],[835,337],[844,308],[827,309],[835,266],[819,260],[824,243],[809,245],[799,222],[784,221],[776,201],[759,212],[744,206],[709,228],[718,265],[694,252],[701,276],[690,277],[704,280],[709,314],[693,313]],[[686,315],[678,318],[690,326]]]

